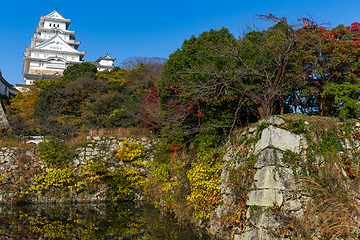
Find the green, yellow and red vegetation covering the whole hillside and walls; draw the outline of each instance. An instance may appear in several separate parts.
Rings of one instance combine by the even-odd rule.
[[[331,197],[345,212],[358,214],[357,202],[349,200],[354,199],[349,194],[355,194],[349,189],[358,183],[358,154],[345,151],[343,143],[347,139],[354,145],[360,138],[353,120],[359,118],[360,108],[360,24],[327,29],[306,18],[294,25],[271,14],[259,18],[274,25],[250,29],[238,38],[226,28],[211,29],[185,40],[168,60],[130,58],[122,68],[99,73],[90,64],[75,64],[59,80],[37,80],[10,99],[6,111],[12,133],[4,130],[3,137],[40,134],[71,139],[93,129],[147,129],[160,141],[147,166],[146,184],[135,172],[112,175],[101,159],[89,163],[88,177],[111,179],[107,184],[119,198],[130,191],[124,186],[140,182],[157,206],[179,219],[206,222],[223,202],[220,182],[229,147],[246,159],[244,168],[233,172],[243,181],[232,183],[240,189],[238,204],[245,204],[255,174],[255,157],[247,154],[260,135],[240,141],[237,134],[279,114],[287,122],[282,128],[308,140],[306,163],[287,153],[290,166],[304,173],[299,182],[310,184],[314,199]],[[260,124],[256,132],[268,126]],[[68,159],[54,160],[45,146],[39,150],[48,154],[42,158],[49,166],[71,170],[66,168]],[[327,164],[319,164],[319,159]],[[45,176],[40,180],[48,181]],[[315,201],[308,212],[324,216],[306,215],[313,225],[304,225],[300,235],[294,227],[279,234],[314,236],[316,226],[325,238],[358,236],[356,217],[336,215],[340,205]],[[229,229],[247,227],[242,221],[245,206],[228,216]],[[339,218],[327,219],[329,214]],[[339,219],[355,227],[346,228]]]

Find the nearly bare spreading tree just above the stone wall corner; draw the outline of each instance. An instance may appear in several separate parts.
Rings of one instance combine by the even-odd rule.
[[[236,91],[254,107],[261,119],[286,112],[285,97],[292,83],[289,68],[302,33],[286,18],[271,14],[259,17],[273,21],[275,25],[267,30],[250,31],[230,46],[217,46],[216,49],[219,55],[238,63],[229,80],[234,81]]]

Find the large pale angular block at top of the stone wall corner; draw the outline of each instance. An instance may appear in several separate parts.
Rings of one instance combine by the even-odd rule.
[[[261,133],[260,140],[255,145],[254,154],[258,154],[267,147],[275,147],[280,150],[300,152],[300,136],[284,129],[269,126]]]

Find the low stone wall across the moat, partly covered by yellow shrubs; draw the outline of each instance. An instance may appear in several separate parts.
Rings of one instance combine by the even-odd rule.
[[[117,167],[128,167],[129,163],[122,161],[115,161],[116,149],[120,148],[124,140],[137,142],[143,145],[149,150],[156,140],[148,138],[125,138],[125,137],[104,137],[104,136],[88,136],[87,145],[76,149],[76,157],[68,165],[75,169],[77,172],[79,169],[88,164],[94,159],[104,159],[110,171]],[[27,160],[26,160],[27,159]],[[30,160],[29,160],[30,159]],[[143,158],[143,163],[151,161],[150,155]],[[51,171],[51,168],[47,168],[44,162],[39,159],[37,152],[33,148],[19,149],[13,148],[1,148],[0,149],[0,179],[4,178],[6,186],[14,183],[14,179],[21,182],[21,177],[26,178],[29,172],[35,169],[41,171]],[[146,174],[147,168],[144,167],[141,170],[143,174]],[[2,177],[1,177],[2,176]],[[8,180],[8,181],[7,181]],[[15,183],[17,182],[15,181]],[[98,185],[96,190],[81,191],[77,194],[65,194],[60,192],[56,194],[54,192],[49,194],[37,194],[32,198],[27,199],[27,202],[31,203],[61,203],[61,202],[99,202],[99,201],[116,201],[116,198],[109,199],[105,185]],[[15,193],[9,192],[5,188],[0,189],[0,204],[7,204],[14,202]],[[124,200],[142,200],[143,196],[141,190],[134,191],[134,194]]]

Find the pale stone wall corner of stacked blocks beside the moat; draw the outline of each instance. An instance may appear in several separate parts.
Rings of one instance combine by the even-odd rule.
[[[220,239],[278,239],[269,233],[284,228],[287,220],[303,215],[307,198],[294,191],[294,168],[283,161],[283,153],[291,151],[305,159],[306,139],[302,134],[277,127],[285,124],[280,117],[272,116],[264,121],[269,126],[261,133],[257,128],[249,128],[238,137],[251,139],[261,134],[256,143],[248,146],[247,157],[240,153],[241,150],[234,150],[234,146],[229,146],[224,157],[220,187],[223,202],[211,216],[209,225],[209,232]],[[241,167],[244,158],[252,157],[255,157],[252,166],[255,174],[247,194],[246,224],[229,229],[224,219],[239,208],[230,174]]]

